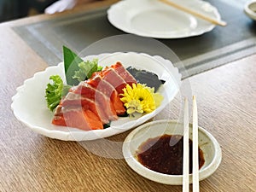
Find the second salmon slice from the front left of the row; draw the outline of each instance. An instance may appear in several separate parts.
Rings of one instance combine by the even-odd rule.
[[[77,108],[83,108],[84,110],[90,109],[90,111],[95,113],[99,117],[99,119],[101,119],[102,124],[109,123],[107,114],[98,103],[79,94],[69,92],[67,96],[62,100],[61,104],[63,107],[62,111],[67,111],[66,108],[70,108],[72,106],[76,106]]]

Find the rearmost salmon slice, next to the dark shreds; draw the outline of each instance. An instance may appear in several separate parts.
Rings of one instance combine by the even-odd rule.
[[[125,67],[122,65],[121,62],[116,62],[111,66],[116,73],[118,73],[123,79],[125,79],[125,82],[127,84],[137,84],[137,80],[129,73]]]

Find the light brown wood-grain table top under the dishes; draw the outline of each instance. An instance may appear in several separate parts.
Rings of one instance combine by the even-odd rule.
[[[139,176],[124,159],[105,158],[80,143],[38,135],[15,119],[10,108],[15,89],[47,64],[11,27],[57,16],[39,15],[0,25],[0,191],[182,191],[181,186]],[[185,80],[197,96],[199,125],[217,138],[223,152],[217,172],[201,181],[201,191],[256,191],[255,61],[252,55]],[[171,108],[171,116],[177,118],[180,105],[173,102]],[[158,117],[164,118],[165,113]],[[129,132],[108,139],[122,142]]]

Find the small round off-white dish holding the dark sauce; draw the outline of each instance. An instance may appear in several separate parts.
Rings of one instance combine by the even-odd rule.
[[[157,183],[182,185],[182,175],[168,175],[160,172],[154,172],[143,166],[137,160],[137,149],[146,142],[148,138],[159,137],[164,134],[168,135],[182,135],[183,124],[178,123],[177,120],[156,120],[137,127],[125,138],[123,144],[123,154],[127,164],[131,169],[143,177],[148,178]],[[189,138],[192,140],[192,125],[189,124]],[[203,180],[215,172],[221,162],[222,154],[221,148],[217,140],[205,129],[199,127],[198,143],[203,151],[205,163],[201,166],[199,171],[199,179]],[[192,182],[192,174],[189,175],[189,181]]]

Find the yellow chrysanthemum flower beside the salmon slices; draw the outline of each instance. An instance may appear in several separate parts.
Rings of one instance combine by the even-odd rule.
[[[127,113],[150,113],[160,106],[163,96],[154,93],[154,88],[147,87],[145,84],[127,84],[123,89],[124,93],[121,101],[125,103]]]

